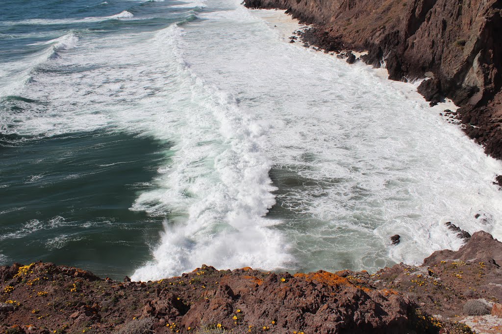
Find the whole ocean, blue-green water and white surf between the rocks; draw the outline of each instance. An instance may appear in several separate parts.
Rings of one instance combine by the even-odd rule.
[[[234,0],[5,0],[0,264],[374,272],[458,249],[448,221],[502,237],[502,164],[454,106],[300,27]]]

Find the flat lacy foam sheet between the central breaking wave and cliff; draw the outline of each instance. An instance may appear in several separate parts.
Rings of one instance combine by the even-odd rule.
[[[270,128],[264,147],[279,180],[298,182],[278,196],[295,269],[417,263],[460,246],[444,226],[450,220],[470,232],[497,230],[501,198],[491,181],[501,165],[441,119],[452,106],[429,108],[416,83],[284,43],[274,33],[283,19],[262,23],[241,8],[201,16],[185,37],[186,61],[238,92],[239,107]],[[212,37],[221,30],[220,44]],[[477,211],[494,218],[481,223]],[[396,233],[403,241],[391,248]]]

